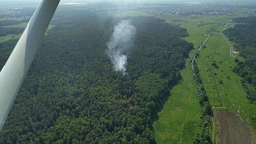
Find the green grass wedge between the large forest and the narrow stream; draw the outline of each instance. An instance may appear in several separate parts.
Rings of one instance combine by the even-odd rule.
[[[171,97],[158,113],[154,122],[156,141],[161,144],[191,144],[192,137],[201,132],[201,107],[198,103],[197,86],[193,80],[190,59],[181,71],[182,81],[171,91]]]

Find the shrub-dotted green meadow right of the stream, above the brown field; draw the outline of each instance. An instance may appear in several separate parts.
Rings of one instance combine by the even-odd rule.
[[[210,104],[237,113],[255,132],[256,125],[251,117],[256,116],[256,105],[248,102],[240,77],[232,72],[236,63],[235,57],[230,56],[230,46],[218,34],[212,34],[205,46],[196,63]],[[237,58],[242,60],[240,56]],[[216,63],[219,68],[212,66],[212,63]]]

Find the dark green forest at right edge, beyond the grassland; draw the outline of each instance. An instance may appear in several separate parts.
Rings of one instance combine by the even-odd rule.
[[[256,104],[256,16],[235,18],[233,21],[239,23],[224,31],[230,40],[236,42],[235,48],[245,61],[237,62],[237,66],[233,71],[239,74],[243,79],[243,87],[246,89],[249,102]],[[247,81],[254,85],[254,89],[250,90],[244,82]]]

